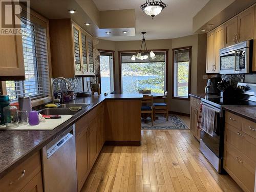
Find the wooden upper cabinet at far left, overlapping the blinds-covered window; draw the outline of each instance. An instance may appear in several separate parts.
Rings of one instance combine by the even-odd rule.
[[[22,35],[0,35],[0,80],[24,80]]]

